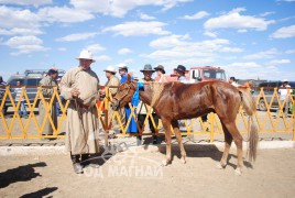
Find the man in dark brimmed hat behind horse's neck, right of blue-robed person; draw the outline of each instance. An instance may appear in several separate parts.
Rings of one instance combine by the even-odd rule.
[[[152,75],[153,75],[153,73],[155,70],[152,68],[152,66],[150,64],[144,65],[144,68],[142,70],[140,70],[140,72],[143,73],[143,78],[139,79],[139,82],[154,81],[154,79],[152,78]],[[144,120],[145,120],[146,113],[148,113],[148,109],[145,108],[145,106],[149,107],[148,105],[144,105],[142,101],[140,101],[139,105],[138,105],[138,108],[136,108],[136,110],[138,110],[138,121],[139,121],[139,125],[140,125],[141,129],[144,125]],[[157,127],[159,125],[159,117],[156,116],[155,112],[153,112],[153,110],[152,110],[152,117],[153,117],[155,127]],[[157,143],[157,136],[155,135],[155,128],[154,128],[152,119],[150,117],[149,117],[149,125],[150,125],[150,130],[153,133],[153,144],[156,144]],[[142,129],[142,130],[144,130],[144,129]],[[142,136],[139,135],[138,136],[138,145],[141,144],[141,140],[142,140]]]

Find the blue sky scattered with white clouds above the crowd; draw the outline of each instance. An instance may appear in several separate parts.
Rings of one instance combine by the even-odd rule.
[[[125,63],[212,65],[237,78],[295,80],[295,0],[0,0],[0,75]]]

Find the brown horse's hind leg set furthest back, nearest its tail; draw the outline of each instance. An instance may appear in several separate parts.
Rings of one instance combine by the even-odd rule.
[[[228,129],[229,133],[232,135],[233,141],[237,145],[237,168],[236,168],[236,174],[241,175],[242,174],[242,167],[243,167],[243,138],[240,134],[234,121],[225,123],[226,128]]]

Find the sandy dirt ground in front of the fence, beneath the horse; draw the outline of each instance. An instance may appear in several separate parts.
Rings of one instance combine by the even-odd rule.
[[[167,167],[164,152],[122,152],[96,158],[99,168],[76,175],[65,154],[1,156],[0,197],[294,197],[295,148],[260,150],[254,164],[234,175],[232,148],[225,169],[221,152],[179,152]],[[105,160],[103,160],[105,158]]]

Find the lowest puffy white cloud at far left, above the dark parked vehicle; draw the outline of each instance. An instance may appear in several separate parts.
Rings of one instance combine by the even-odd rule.
[[[43,41],[36,36],[14,36],[9,38],[6,43],[11,48],[18,50],[12,55],[29,54],[32,52],[47,51],[47,47],[42,46]]]

